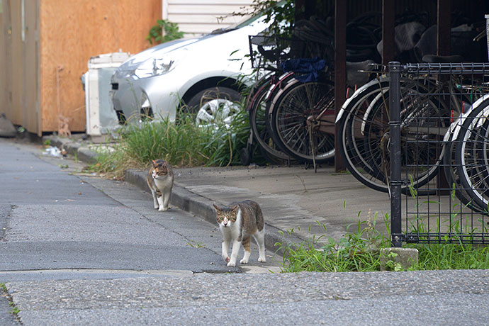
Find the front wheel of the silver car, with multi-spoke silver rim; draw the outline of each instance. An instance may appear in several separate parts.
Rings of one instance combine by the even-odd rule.
[[[203,89],[191,97],[186,103],[186,109],[180,111],[180,115],[196,114],[197,125],[230,123],[231,116],[240,110],[240,106],[235,103],[240,100],[240,93],[234,89],[227,87]]]

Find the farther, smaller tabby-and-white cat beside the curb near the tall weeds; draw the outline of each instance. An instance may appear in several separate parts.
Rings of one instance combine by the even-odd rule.
[[[151,163],[146,181],[153,195],[154,208],[168,210],[173,187],[172,166],[164,159],[153,159]]]

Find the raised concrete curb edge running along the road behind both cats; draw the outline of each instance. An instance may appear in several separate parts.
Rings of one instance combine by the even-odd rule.
[[[45,136],[43,137],[43,140],[44,139],[49,139],[52,146],[66,150],[68,154],[77,156],[78,159],[83,162],[89,164],[96,163],[97,154],[90,150],[89,147],[82,146],[78,142],[72,142],[72,140],[60,139],[60,137],[57,136]],[[142,191],[150,193],[150,189],[147,186],[146,175],[146,171],[128,169],[125,171],[124,179],[126,182],[137,186]],[[201,196],[198,193],[193,193],[184,186],[179,185],[178,182],[174,182],[170,203],[172,206],[176,206],[181,210],[185,210],[186,212],[203,218],[209,223],[217,225],[215,222],[215,210],[212,206],[216,201]],[[227,203],[218,204],[225,205]],[[278,227],[265,223],[265,247],[270,252],[283,256],[283,254],[285,254],[284,247],[290,247],[303,241],[305,240],[296,235],[289,235]],[[277,243],[281,243],[281,247],[276,246]]]

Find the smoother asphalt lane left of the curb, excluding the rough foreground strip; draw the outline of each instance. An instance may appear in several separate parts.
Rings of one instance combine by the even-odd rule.
[[[79,174],[84,164],[40,147],[0,138],[0,152],[0,283],[243,271],[223,262],[217,225],[154,210],[148,193]],[[268,269],[251,265],[245,271]],[[9,325],[5,296],[0,307]]]

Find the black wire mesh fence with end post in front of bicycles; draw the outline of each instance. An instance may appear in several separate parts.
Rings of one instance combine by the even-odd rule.
[[[389,76],[387,130],[369,133],[388,143],[393,245],[488,243],[489,64],[390,62]]]

